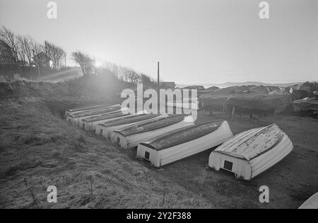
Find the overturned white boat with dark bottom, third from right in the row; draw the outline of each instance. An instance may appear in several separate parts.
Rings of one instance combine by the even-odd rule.
[[[148,139],[158,135],[190,125],[194,125],[194,120],[191,116],[184,118],[184,115],[172,115],[166,118],[157,118],[141,124],[131,125],[121,130],[114,130],[112,142],[119,145],[119,147],[129,149],[137,147],[139,143],[146,142]]]

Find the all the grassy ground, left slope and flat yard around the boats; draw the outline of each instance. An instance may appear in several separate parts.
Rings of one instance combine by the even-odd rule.
[[[271,115],[229,121],[235,134],[275,122],[295,147],[253,181],[240,181],[230,173],[206,168],[212,150],[153,168],[134,154],[69,124],[60,116],[63,108],[54,108],[61,102],[67,107],[89,97],[36,95],[13,94],[0,100],[2,208],[297,208],[317,192],[315,119]],[[199,113],[197,122],[217,118],[226,117]],[[57,204],[47,202],[49,185],[57,186]],[[269,186],[268,204],[259,203],[261,185]]]

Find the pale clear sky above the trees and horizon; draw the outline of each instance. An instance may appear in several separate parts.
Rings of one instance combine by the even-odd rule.
[[[0,25],[177,84],[318,81],[318,0],[48,2],[0,0]]]

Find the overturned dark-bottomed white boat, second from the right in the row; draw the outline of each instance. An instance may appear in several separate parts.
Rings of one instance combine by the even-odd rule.
[[[222,144],[232,137],[228,122],[214,120],[168,132],[139,144],[137,157],[146,159],[155,167],[192,156]]]

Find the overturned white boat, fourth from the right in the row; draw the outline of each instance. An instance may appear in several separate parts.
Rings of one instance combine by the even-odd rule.
[[[124,116],[122,118],[116,118],[114,120],[107,120],[106,122],[97,125],[95,134],[102,135],[105,138],[110,138],[114,130],[120,130],[124,127],[128,127],[129,125],[136,125],[147,120],[153,120],[155,118],[165,118],[167,116],[167,114],[141,114],[133,116]]]

